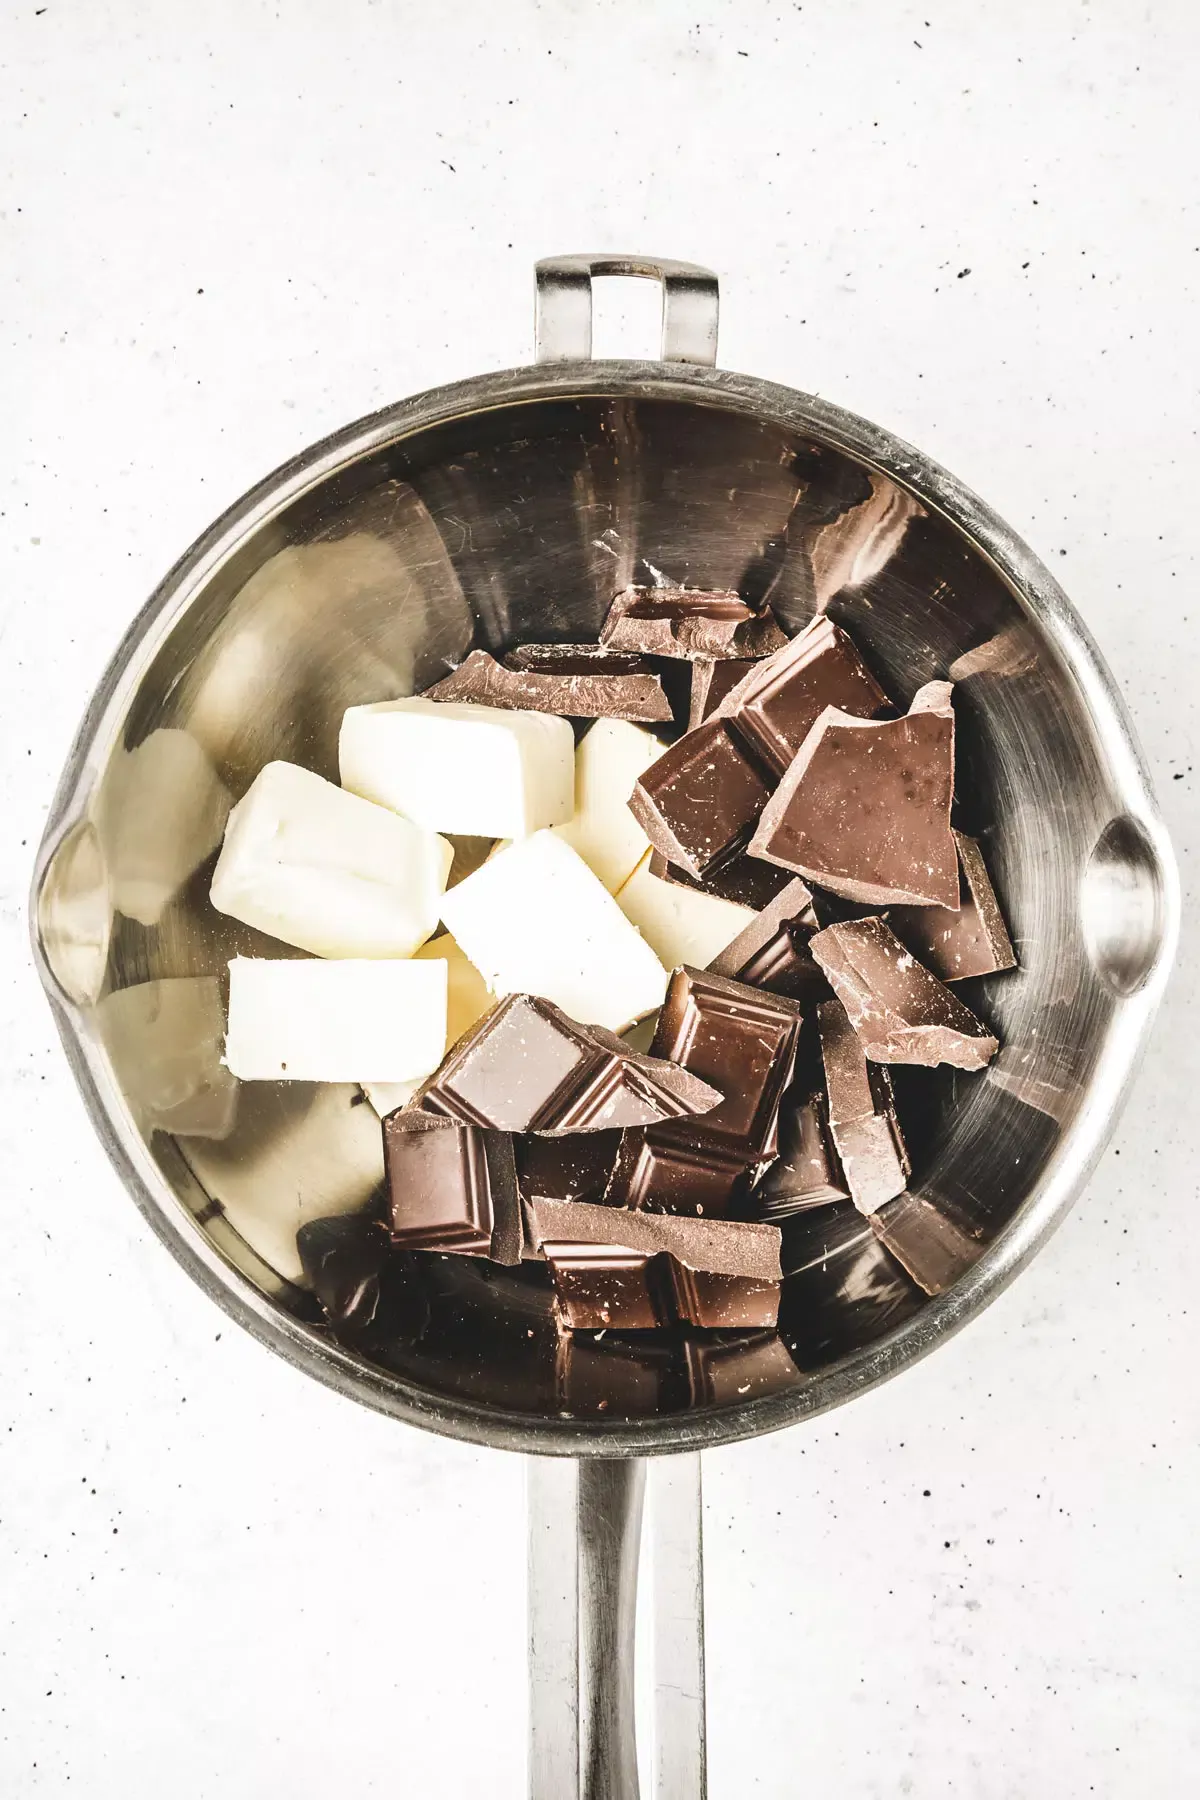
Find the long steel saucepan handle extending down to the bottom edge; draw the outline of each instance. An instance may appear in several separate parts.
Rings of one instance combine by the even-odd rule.
[[[646,1463],[529,1463],[529,1800],[639,1800],[633,1638]],[[703,1800],[700,1458],[651,1481],[655,1800]]]

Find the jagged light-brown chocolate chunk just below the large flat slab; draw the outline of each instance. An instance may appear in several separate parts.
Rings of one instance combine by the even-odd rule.
[[[882,918],[828,925],[808,947],[873,1062],[982,1069],[1000,1048]]]

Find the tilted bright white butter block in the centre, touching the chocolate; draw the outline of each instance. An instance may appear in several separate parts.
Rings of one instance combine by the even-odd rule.
[[[612,1031],[662,1004],[662,963],[554,832],[489,857],[446,895],[443,920],[493,994],[542,994]]]

